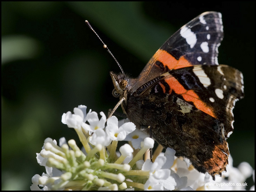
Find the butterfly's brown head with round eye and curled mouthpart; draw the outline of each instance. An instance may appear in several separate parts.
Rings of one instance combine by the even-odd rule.
[[[115,74],[110,71],[110,76],[115,87],[112,91],[112,95],[114,97],[123,97],[124,91],[127,89],[128,86],[128,81],[124,79],[124,75],[122,73]]]

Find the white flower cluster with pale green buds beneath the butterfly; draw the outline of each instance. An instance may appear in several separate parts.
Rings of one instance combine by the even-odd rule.
[[[189,160],[176,158],[175,150],[167,148],[162,153],[161,146],[154,152],[154,162],[144,162],[154,140],[132,122],[118,121],[115,116],[106,119],[103,112],[100,115],[101,119],[91,110],[86,114],[84,105],[74,108],[74,114],[63,114],[62,123],[75,129],[83,148],[73,139],[66,142],[61,138],[58,146],[56,140],[47,138],[36,157],[46,173],[32,178],[31,190],[244,190],[243,184],[253,172],[248,163],[234,168],[230,158],[227,172],[213,181],[209,174],[195,170]],[[129,144],[117,150],[118,141]]]

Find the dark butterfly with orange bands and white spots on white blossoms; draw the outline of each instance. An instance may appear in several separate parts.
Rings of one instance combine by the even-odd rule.
[[[226,171],[232,110],[244,97],[242,73],[218,64],[223,36],[221,13],[205,12],[174,33],[137,78],[110,72],[130,121],[213,179]]]

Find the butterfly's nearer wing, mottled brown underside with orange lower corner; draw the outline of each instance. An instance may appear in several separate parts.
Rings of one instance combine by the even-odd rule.
[[[242,97],[240,71],[225,65],[196,65],[168,71],[142,85],[130,97],[131,101],[140,98],[140,109],[130,115],[130,108],[127,114],[137,126],[152,126],[161,145],[214,177],[228,163],[232,110]]]

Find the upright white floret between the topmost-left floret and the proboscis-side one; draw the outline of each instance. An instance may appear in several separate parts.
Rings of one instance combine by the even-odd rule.
[[[98,114],[95,111],[87,114],[87,121],[90,125],[85,124],[85,129],[89,131],[90,134],[97,129],[105,128],[105,123],[107,120],[106,115],[103,112],[100,112],[100,115],[102,117],[99,120]]]

